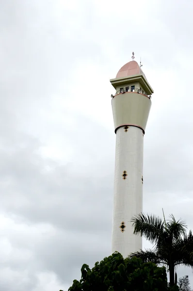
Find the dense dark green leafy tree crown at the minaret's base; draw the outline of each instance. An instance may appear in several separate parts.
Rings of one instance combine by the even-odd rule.
[[[96,262],[90,269],[84,264],[80,281],[74,280],[68,291],[167,291],[165,267],[141,259],[123,259],[115,252]]]

